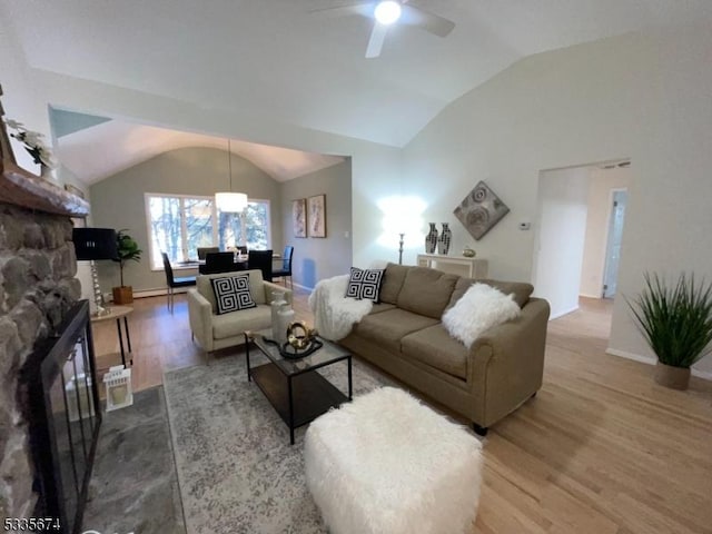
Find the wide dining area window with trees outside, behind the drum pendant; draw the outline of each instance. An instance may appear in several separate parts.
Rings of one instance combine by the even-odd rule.
[[[162,270],[161,253],[171,261],[198,257],[198,247],[269,248],[269,200],[250,200],[244,214],[222,212],[214,197],[146,194],[151,267]]]

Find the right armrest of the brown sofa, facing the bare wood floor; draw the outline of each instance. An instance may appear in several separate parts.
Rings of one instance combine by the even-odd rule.
[[[468,382],[483,396],[476,421],[490,426],[542,387],[548,303],[531,298],[514,320],[488,329],[471,348]]]

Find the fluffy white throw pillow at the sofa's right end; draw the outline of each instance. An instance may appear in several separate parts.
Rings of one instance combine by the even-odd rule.
[[[486,284],[473,284],[455,306],[443,314],[443,326],[469,348],[483,332],[520,316],[522,310],[513,297]]]

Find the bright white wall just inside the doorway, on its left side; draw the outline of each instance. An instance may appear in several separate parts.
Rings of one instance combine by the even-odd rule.
[[[589,176],[587,168],[575,168],[540,178],[534,295],[548,300],[552,318],[578,308]]]

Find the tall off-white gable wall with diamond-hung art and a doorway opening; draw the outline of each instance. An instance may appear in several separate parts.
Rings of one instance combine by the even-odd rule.
[[[712,279],[710,57],[708,27],[527,58],[448,106],[405,148],[406,192],[427,192],[426,219],[454,221],[459,199],[484,179],[512,212],[476,244],[477,256],[493,277],[530,280],[534,233],[516,225],[536,210],[540,170],[631,158],[619,293],[639,293],[645,270]],[[457,250],[467,235],[452,227]],[[623,299],[610,347],[652,356]],[[712,358],[696,368],[712,370]]]

